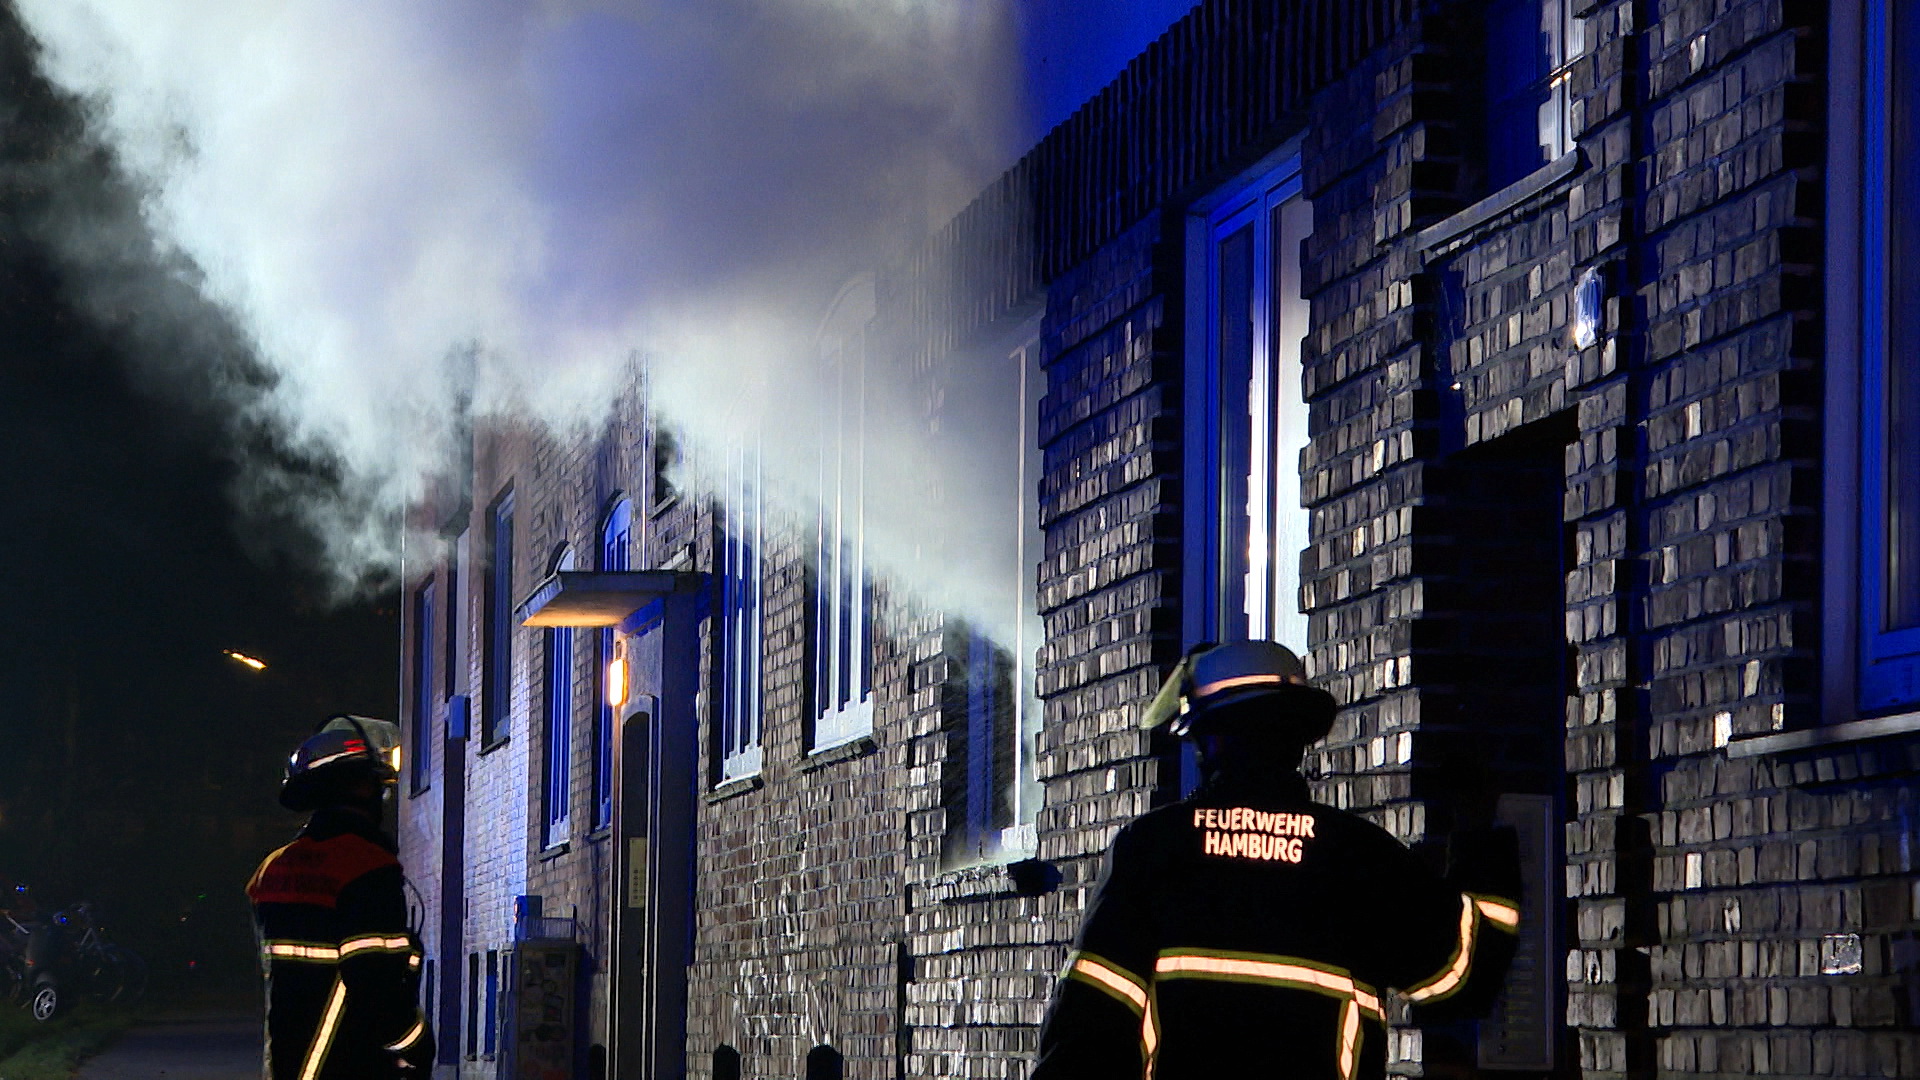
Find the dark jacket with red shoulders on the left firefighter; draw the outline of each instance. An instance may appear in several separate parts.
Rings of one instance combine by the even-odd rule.
[[[426,1076],[420,945],[407,928],[394,842],[372,821],[323,809],[248,884],[267,969],[273,1080]]]

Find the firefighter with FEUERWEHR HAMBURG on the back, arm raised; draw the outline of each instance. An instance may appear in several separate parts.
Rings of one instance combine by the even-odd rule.
[[[1273,642],[1181,661],[1142,724],[1192,738],[1202,784],[1114,838],[1031,1080],[1379,1080],[1386,988],[1421,1020],[1492,1001],[1521,919],[1511,834],[1457,846],[1442,878],[1311,801],[1298,769],[1332,717]]]

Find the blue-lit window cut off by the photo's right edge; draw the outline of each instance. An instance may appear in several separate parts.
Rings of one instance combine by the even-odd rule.
[[[1920,198],[1920,6],[1868,0],[1864,15],[1864,304],[1847,398],[1859,419],[1855,711],[1876,715],[1920,705],[1920,217],[1897,209]]]

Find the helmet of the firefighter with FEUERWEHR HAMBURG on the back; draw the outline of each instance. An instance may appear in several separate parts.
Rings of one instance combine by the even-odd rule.
[[[1277,724],[1308,746],[1332,730],[1336,705],[1306,678],[1294,650],[1277,642],[1194,646],[1146,705],[1140,726],[1165,724],[1185,738],[1223,724]]]

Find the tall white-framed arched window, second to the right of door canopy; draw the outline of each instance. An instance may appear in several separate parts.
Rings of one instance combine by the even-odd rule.
[[[866,365],[874,279],[833,302],[820,332],[828,415],[814,534],[814,724],[810,749],[874,730],[874,580],[866,565]]]

